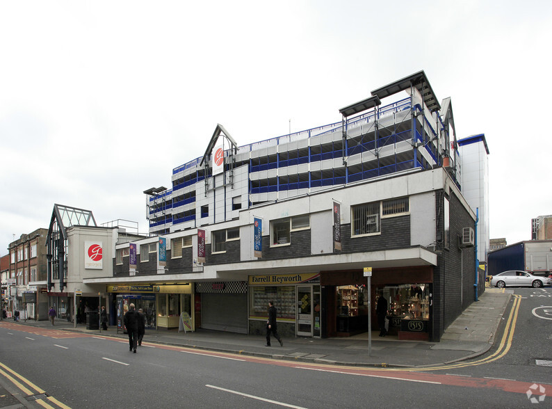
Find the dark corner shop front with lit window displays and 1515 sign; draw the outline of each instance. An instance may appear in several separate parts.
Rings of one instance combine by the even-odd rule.
[[[380,330],[375,314],[379,297],[387,301],[389,335],[429,341],[432,268],[375,268],[368,279],[362,271],[332,271],[320,275],[325,327],[323,337],[349,337]],[[368,291],[369,296],[368,297]]]

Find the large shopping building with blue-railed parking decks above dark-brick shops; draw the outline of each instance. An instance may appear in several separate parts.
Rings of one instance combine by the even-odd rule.
[[[145,191],[159,236],[117,243],[113,277],[85,284],[157,328],[260,333],[274,300],[279,330],[309,337],[377,327],[384,296],[392,334],[438,341],[484,290],[450,98],[418,72],[339,112],[245,146],[218,125],[170,189]]]

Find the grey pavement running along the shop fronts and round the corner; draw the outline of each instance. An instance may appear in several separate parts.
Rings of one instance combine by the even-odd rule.
[[[273,339],[273,346],[267,347],[264,346],[266,339],[261,335],[202,329],[195,332],[146,330],[143,342],[263,358],[364,367],[399,368],[450,364],[475,358],[492,348],[498,338],[498,325],[512,294],[513,290],[487,288],[478,301],[472,303],[448,326],[441,342],[399,341],[393,336],[378,337],[379,332],[373,331],[371,344],[366,332],[352,337],[326,339],[284,338],[284,346],[279,346]],[[8,322],[13,323],[13,320]],[[19,321],[19,324],[128,339],[121,331],[117,333],[116,327],[109,327],[107,331],[87,330],[86,325],[79,324],[74,328],[74,323],[60,319],[56,320],[55,326],[51,326],[49,321]]]

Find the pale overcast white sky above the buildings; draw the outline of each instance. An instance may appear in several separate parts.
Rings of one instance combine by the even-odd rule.
[[[490,237],[552,214],[551,1],[0,1],[0,255],[54,204],[147,232],[201,157],[341,120],[424,70],[489,146]]]

